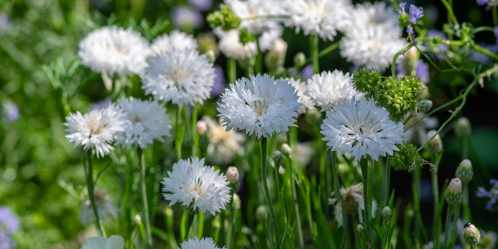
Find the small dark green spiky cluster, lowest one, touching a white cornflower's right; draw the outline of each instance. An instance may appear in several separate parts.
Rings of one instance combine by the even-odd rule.
[[[411,172],[412,170],[422,168],[424,163],[422,157],[417,151],[417,146],[403,142],[402,144],[396,144],[399,148],[398,151],[394,151],[389,164],[394,170],[406,170]]]

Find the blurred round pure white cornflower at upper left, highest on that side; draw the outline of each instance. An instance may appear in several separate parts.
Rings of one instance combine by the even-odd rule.
[[[128,28],[106,26],[88,34],[80,42],[81,64],[94,72],[142,75],[151,50],[140,33]]]

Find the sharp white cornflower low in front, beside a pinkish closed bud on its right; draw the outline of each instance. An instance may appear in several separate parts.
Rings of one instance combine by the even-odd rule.
[[[173,172],[161,183],[164,199],[171,201],[169,206],[182,202],[182,206],[193,212],[206,211],[216,215],[230,202],[230,188],[227,177],[214,167],[204,166],[204,158],[191,157],[173,164]]]

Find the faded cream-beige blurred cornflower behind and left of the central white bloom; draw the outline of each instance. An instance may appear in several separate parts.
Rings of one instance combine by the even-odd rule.
[[[221,120],[214,122],[205,116],[202,118],[209,127],[208,160],[214,164],[229,163],[236,154],[242,153],[241,143],[246,136],[235,130],[227,131]]]

